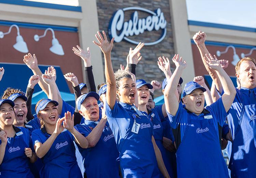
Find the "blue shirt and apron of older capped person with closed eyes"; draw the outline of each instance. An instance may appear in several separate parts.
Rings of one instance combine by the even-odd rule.
[[[98,123],[99,121],[85,120],[83,124],[78,124],[75,127],[84,137],[87,137]],[[119,153],[108,122],[94,147],[84,149],[78,144],[77,147],[83,156],[87,177],[119,178],[119,162],[116,161]]]

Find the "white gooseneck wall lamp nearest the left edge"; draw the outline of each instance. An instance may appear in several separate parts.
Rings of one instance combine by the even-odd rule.
[[[3,38],[4,35],[11,33],[11,30],[14,26],[17,28],[17,37],[16,37],[16,43],[13,45],[13,48],[19,52],[28,53],[27,44],[23,40],[23,37],[19,34],[19,27],[17,25],[15,25],[15,24],[11,25],[9,28],[9,31],[6,33],[0,32],[0,38]]]

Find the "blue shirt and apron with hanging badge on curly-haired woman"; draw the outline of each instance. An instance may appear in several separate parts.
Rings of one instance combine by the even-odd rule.
[[[152,144],[153,125],[147,115],[138,115],[131,107],[115,102],[114,108],[110,109],[106,103],[106,116],[120,153],[123,177],[159,177]]]

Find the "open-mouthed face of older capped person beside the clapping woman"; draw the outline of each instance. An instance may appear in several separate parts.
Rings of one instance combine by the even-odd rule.
[[[99,120],[99,105],[95,97],[87,97],[81,105],[79,113],[90,121]]]

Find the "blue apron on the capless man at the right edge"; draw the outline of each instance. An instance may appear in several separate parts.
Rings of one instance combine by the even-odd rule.
[[[256,107],[243,105],[229,161],[232,178],[256,177]]]

